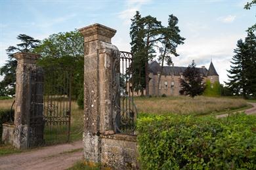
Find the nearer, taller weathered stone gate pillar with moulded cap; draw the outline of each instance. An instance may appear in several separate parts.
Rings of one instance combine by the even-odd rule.
[[[100,162],[100,134],[114,130],[112,115],[112,63],[119,51],[111,44],[116,30],[100,24],[79,29],[84,37],[85,72],[83,132],[84,156]]]

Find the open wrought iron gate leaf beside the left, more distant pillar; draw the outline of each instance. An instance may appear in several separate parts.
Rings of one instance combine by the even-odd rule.
[[[71,72],[45,69],[43,115],[45,144],[70,141]]]

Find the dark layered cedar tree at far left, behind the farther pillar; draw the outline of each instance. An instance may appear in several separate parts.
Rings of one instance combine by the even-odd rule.
[[[0,82],[0,95],[15,94],[17,61],[14,59],[13,54],[16,52],[33,52],[40,42],[25,34],[18,35],[17,39],[20,40],[21,43],[7,48],[7,63],[0,68],[0,75],[4,76],[3,80]]]

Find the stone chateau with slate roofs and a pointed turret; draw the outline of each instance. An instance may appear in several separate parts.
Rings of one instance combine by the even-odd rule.
[[[178,67],[174,66],[174,64],[171,66],[163,66],[160,87],[158,87],[158,74],[160,74],[161,66],[157,61],[152,61],[149,64],[149,94],[158,95],[159,88],[160,95],[180,95],[181,83],[179,80],[183,78],[182,73],[185,69],[186,67]],[[212,62],[210,63],[209,69],[206,69],[205,66],[198,69],[203,76],[203,82],[209,80],[211,87],[213,87],[214,82],[219,82],[219,75]]]

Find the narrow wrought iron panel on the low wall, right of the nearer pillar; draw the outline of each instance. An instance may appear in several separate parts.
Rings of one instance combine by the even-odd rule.
[[[135,135],[137,108],[133,101],[132,54],[120,52],[112,62],[112,106],[117,133]],[[118,93],[114,93],[117,90]]]

